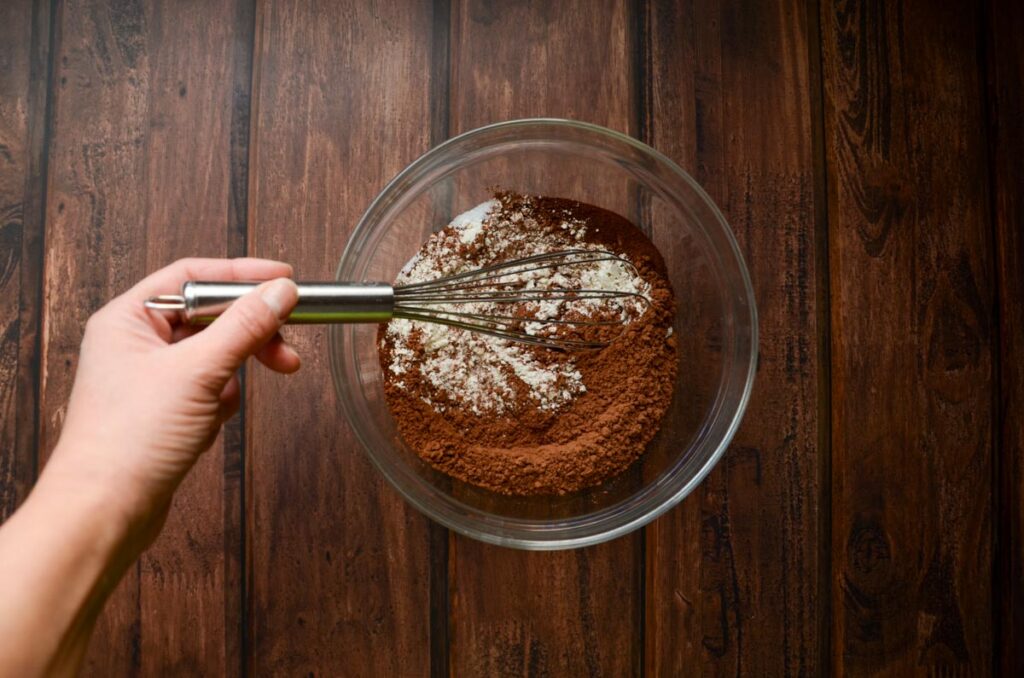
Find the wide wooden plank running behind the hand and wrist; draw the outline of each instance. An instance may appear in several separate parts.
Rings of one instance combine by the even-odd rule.
[[[42,448],[56,441],[86,317],[185,255],[226,253],[234,0],[61,5],[54,73]],[[237,35],[238,31],[246,32]],[[91,675],[237,673],[225,628],[225,484],[216,443],[101,617]],[[236,563],[234,566],[238,566]],[[238,580],[238,575],[233,575]],[[237,649],[234,650],[237,651]]]

